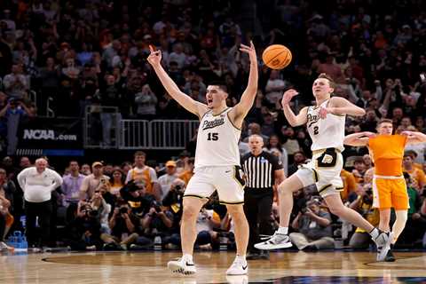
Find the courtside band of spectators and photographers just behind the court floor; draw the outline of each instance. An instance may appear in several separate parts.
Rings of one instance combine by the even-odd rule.
[[[413,162],[413,154],[407,151],[404,158],[410,209],[397,248],[426,248],[426,176],[421,165]],[[306,162],[302,152],[295,155],[290,171]],[[11,157],[4,158],[0,167],[0,241],[18,230],[27,234],[30,248],[59,245],[75,250],[138,250],[180,246],[182,197],[193,176],[189,152],[153,167],[146,165],[146,154],[141,151],[134,154],[133,162],[121,165],[80,165],[72,160],[66,169],[53,170],[46,161],[38,159],[33,166],[24,156],[15,167]],[[378,210],[372,207],[372,164],[366,156],[348,161],[341,175],[341,197],[346,206],[378,225]],[[43,193],[39,193],[41,185],[46,188]],[[277,228],[280,217],[274,195],[272,215],[266,219]],[[296,248],[358,249],[372,244],[368,233],[329,212],[314,185],[294,193],[294,199],[290,239]],[[201,210],[197,232],[197,248],[233,248],[233,221],[217,196],[213,195]],[[7,248],[4,243],[1,246]]]

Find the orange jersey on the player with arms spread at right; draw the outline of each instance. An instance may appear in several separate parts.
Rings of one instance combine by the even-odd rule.
[[[375,162],[375,174],[402,176],[402,159],[406,137],[402,135],[378,135],[368,139],[370,154]]]

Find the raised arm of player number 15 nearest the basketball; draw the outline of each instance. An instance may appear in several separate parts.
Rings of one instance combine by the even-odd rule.
[[[233,122],[237,126],[241,126],[244,117],[246,117],[255,102],[257,93],[257,81],[259,78],[256,50],[253,42],[250,42],[250,46],[241,44],[240,51],[248,53],[248,57],[250,59],[250,73],[248,75],[247,88],[242,93],[240,102],[237,105],[233,106],[233,109],[229,113],[231,119],[233,119]]]

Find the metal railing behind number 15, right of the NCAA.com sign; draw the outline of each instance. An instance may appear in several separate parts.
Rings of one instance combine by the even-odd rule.
[[[84,148],[185,149],[199,124],[189,120],[121,119],[117,107],[86,106]]]

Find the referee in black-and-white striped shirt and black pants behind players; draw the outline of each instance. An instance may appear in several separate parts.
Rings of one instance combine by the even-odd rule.
[[[272,235],[273,185],[284,180],[282,162],[273,154],[263,151],[264,139],[257,135],[248,138],[250,153],[241,159],[247,177],[244,193],[244,213],[250,228],[248,259],[269,259],[269,255],[256,249],[259,233]]]

